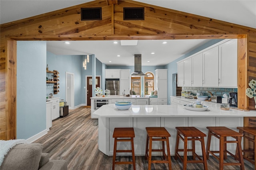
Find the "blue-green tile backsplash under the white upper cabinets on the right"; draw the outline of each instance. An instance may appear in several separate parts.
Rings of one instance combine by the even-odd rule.
[[[194,96],[196,93],[202,93],[203,96],[222,96],[223,94],[229,95],[229,92],[237,92],[237,88],[211,88],[211,87],[182,87],[182,91],[191,92]]]

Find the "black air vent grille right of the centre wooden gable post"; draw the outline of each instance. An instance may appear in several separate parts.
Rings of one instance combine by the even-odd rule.
[[[144,8],[124,8],[124,20],[144,20]]]

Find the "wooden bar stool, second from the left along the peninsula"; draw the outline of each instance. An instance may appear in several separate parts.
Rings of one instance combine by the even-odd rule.
[[[172,163],[169,146],[169,137],[171,136],[170,133],[168,133],[168,131],[164,127],[146,127],[146,131],[146,159],[148,160],[148,170],[151,170],[151,163],[168,163],[169,170],[171,170]],[[162,149],[152,149],[152,141],[162,141]],[[166,141],[167,155],[165,154],[164,141]],[[163,152],[163,160],[152,160],[152,152]]]

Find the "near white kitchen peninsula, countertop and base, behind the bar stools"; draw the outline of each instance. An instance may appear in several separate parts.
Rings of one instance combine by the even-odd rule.
[[[146,148],[146,127],[165,127],[170,133],[170,150],[174,154],[176,142],[175,127],[194,126],[208,135],[207,126],[226,126],[237,131],[243,126],[243,117],[255,117],[256,111],[236,109],[221,110],[220,107],[209,107],[207,111],[190,111],[182,105],[132,105],[128,110],[118,110],[114,104],[104,105],[94,113],[98,117],[98,145],[104,154],[113,155],[115,127],[134,127],[135,155],[144,155]],[[205,138],[205,141],[207,137]],[[211,149],[218,149],[218,140],[212,139]],[[128,143],[119,145],[119,149],[128,149]],[[158,147],[158,143],[154,147]],[[235,152],[236,145],[228,145]],[[196,152],[200,154],[200,145],[196,143]]]

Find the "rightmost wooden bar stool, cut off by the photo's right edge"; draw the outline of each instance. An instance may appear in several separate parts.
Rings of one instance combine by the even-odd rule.
[[[244,138],[248,139],[248,141],[252,141],[254,144],[254,150],[242,150],[242,152],[244,152],[244,159],[254,164],[256,168],[256,127],[237,127],[237,129],[239,129],[239,133],[244,135]],[[249,158],[246,156],[246,152],[252,152],[254,157]]]

